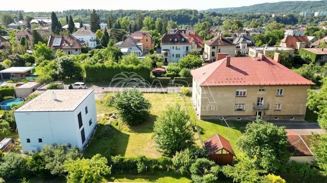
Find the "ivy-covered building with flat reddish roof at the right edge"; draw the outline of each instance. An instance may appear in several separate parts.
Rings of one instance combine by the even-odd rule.
[[[323,66],[327,63],[327,48],[303,48],[299,54],[302,58],[314,59],[313,62],[316,66]]]

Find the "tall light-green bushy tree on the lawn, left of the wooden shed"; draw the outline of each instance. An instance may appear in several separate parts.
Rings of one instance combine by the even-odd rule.
[[[189,126],[190,116],[180,105],[168,106],[154,122],[155,146],[167,156],[191,147],[194,144],[193,132]]]

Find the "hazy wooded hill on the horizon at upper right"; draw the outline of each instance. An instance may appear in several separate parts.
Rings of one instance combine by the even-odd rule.
[[[203,10],[202,12],[221,13],[299,13],[303,11],[327,11],[327,1],[286,1],[278,3],[263,3],[238,8],[215,8]]]

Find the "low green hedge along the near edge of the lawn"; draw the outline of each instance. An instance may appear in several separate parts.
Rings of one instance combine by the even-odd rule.
[[[167,157],[160,157],[157,159],[146,158],[145,156],[139,157],[111,157],[108,161],[111,165],[112,173],[143,173],[154,171],[167,171],[172,166],[172,161]]]

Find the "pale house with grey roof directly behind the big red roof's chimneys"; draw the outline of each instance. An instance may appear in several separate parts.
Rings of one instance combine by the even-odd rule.
[[[249,48],[255,46],[254,40],[250,36],[241,35],[233,41],[236,44],[235,54],[248,54]]]

